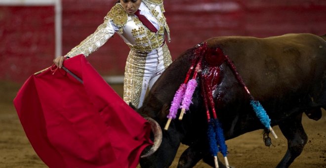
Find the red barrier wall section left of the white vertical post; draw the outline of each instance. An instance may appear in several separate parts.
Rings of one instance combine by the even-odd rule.
[[[53,59],[54,6],[0,6],[0,80],[25,81]]]

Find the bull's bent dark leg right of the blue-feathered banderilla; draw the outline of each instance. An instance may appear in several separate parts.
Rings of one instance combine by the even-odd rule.
[[[304,145],[307,143],[308,137],[301,124],[301,119],[302,113],[279,124],[287,139],[287,151],[277,168],[288,168],[294,159],[301,154]]]

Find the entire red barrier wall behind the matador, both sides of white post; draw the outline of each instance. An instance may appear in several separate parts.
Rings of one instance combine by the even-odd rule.
[[[62,53],[93,33],[115,1],[62,0]],[[326,0],[165,0],[164,6],[173,59],[214,36],[326,34]],[[26,80],[51,65],[54,7],[0,6],[0,38],[0,79]],[[88,60],[102,75],[123,75],[128,51],[116,35]]]

